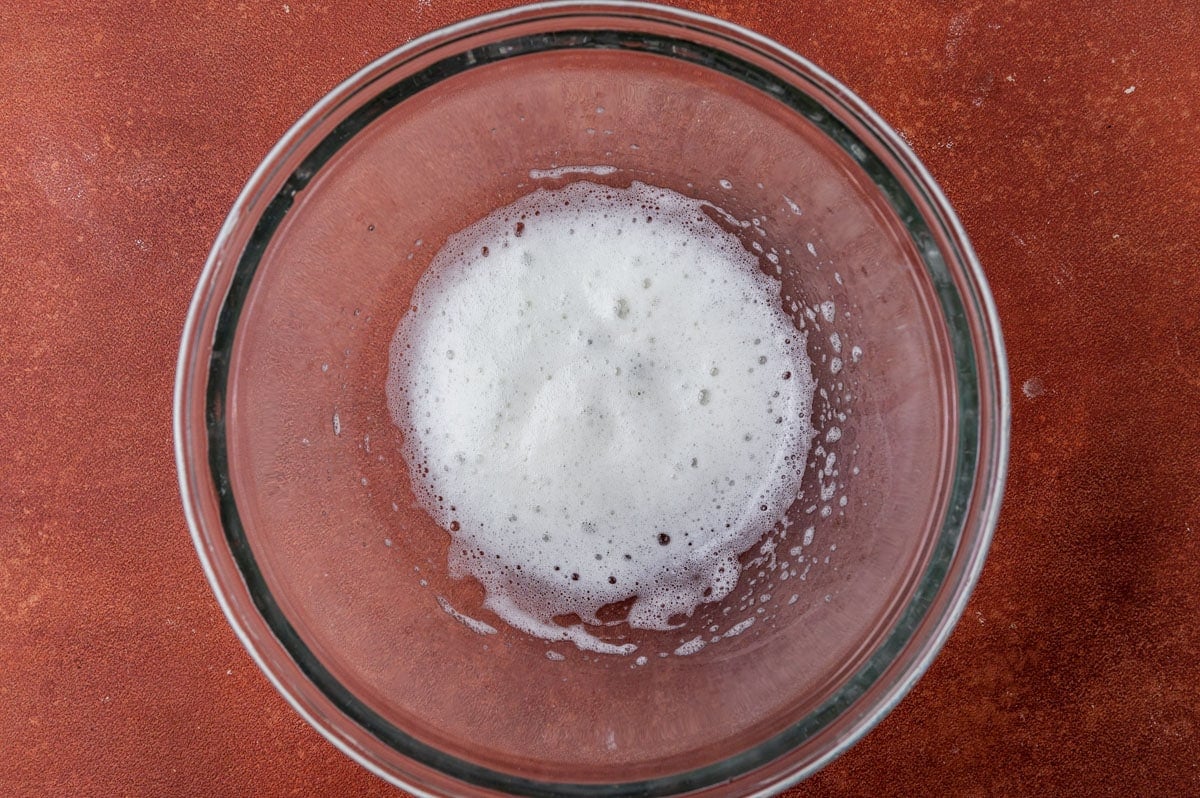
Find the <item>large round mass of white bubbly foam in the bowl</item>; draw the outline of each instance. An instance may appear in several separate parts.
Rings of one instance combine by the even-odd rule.
[[[779,290],[701,202],[641,184],[539,190],[451,236],[388,377],[451,572],[612,654],[635,647],[595,636],[601,607],[636,596],[631,626],[671,629],[727,595],[814,434]]]

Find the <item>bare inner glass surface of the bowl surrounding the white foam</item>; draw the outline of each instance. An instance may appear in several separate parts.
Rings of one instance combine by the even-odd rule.
[[[545,781],[664,778],[828,712],[911,601],[947,514],[954,356],[911,220],[794,103],[656,52],[467,65],[380,90],[371,116],[254,253],[229,349],[229,486],[290,644],[386,725]],[[551,172],[599,164],[614,170]],[[391,336],[446,236],[577,179],[720,208],[779,278],[817,378],[803,493],[743,556],[738,588],[682,630],[606,632],[642,666],[516,631],[450,578],[384,394]]]

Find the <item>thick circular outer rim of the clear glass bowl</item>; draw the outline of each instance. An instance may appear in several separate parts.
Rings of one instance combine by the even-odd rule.
[[[354,744],[353,730],[347,732],[344,728],[335,728],[334,725],[338,721],[338,718],[330,718],[330,713],[325,712],[326,708],[316,706],[312,702],[312,696],[306,697],[300,695],[301,690],[298,690],[277,672],[278,658],[269,659],[265,647],[270,647],[272,643],[280,646],[280,641],[272,636],[272,630],[269,626],[264,629],[265,622],[262,614],[251,614],[247,617],[247,606],[251,610],[257,607],[259,611],[262,607],[256,596],[252,595],[252,590],[246,584],[245,575],[238,570],[236,564],[234,564],[233,571],[229,570],[228,546],[223,545],[228,542],[224,538],[224,524],[221,517],[212,517],[210,508],[204,506],[204,500],[211,499],[212,493],[222,497],[218,502],[233,500],[230,498],[229,485],[221,485],[220,480],[216,480],[209,469],[203,468],[210,455],[205,445],[205,439],[211,433],[208,422],[208,413],[211,409],[211,396],[209,396],[206,388],[210,373],[210,358],[214,349],[214,341],[211,337],[206,340],[206,336],[210,334],[215,335],[217,317],[226,310],[226,299],[229,289],[228,282],[235,277],[241,264],[244,247],[235,246],[236,235],[247,224],[253,226],[258,223],[262,211],[265,210],[265,192],[270,190],[272,180],[278,178],[280,167],[294,157],[296,152],[305,151],[306,145],[310,145],[310,149],[312,149],[322,140],[322,137],[317,137],[313,140],[312,136],[318,130],[320,121],[332,116],[335,112],[346,103],[354,101],[364,91],[370,91],[372,83],[386,76],[391,70],[398,68],[416,55],[431,53],[439,47],[450,44],[464,34],[500,30],[509,24],[546,19],[556,16],[589,18],[605,16],[640,17],[655,23],[666,23],[674,28],[698,29],[704,34],[721,36],[731,43],[736,42],[743,47],[755,48],[788,70],[806,77],[812,85],[822,89],[828,95],[828,100],[839,103],[842,110],[862,122],[874,134],[876,143],[882,145],[887,154],[894,158],[896,166],[907,173],[906,176],[913,182],[914,187],[922,191],[920,199],[928,205],[931,215],[930,218],[924,218],[924,214],[922,214],[922,223],[936,222],[940,224],[942,235],[953,250],[948,254],[953,256],[954,264],[953,266],[947,266],[947,269],[952,274],[955,269],[961,274],[966,289],[964,293],[960,293],[953,284],[942,286],[943,290],[938,292],[940,299],[944,302],[946,296],[943,292],[948,292],[953,294],[955,301],[968,302],[971,305],[971,316],[979,325],[979,329],[971,328],[967,330],[968,341],[965,343],[977,347],[983,354],[982,358],[977,358],[974,350],[968,353],[974,368],[976,380],[979,383],[978,388],[989,389],[985,395],[982,390],[978,391],[978,401],[983,403],[983,409],[986,410],[988,415],[986,420],[990,424],[984,424],[984,419],[976,416],[978,418],[979,430],[974,450],[976,458],[968,469],[970,473],[966,474],[966,476],[971,478],[971,484],[967,486],[967,496],[965,497],[966,506],[961,516],[964,524],[959,529],[956,538],[952,541],[955,547],[962,542],[970,542],[972,547],[967,552],[966,560],[961,563],[955,574],[955,583],[947,586],[949,577],[943,575],[942,581],[934,586],[934,590],[929,595],[929,602],[931,604],[934,599],[946,595],[946,590],[948,589],[949,601],[946,606],[941,607],[940,614],[935,619],[936,623],[932,629],[928,630],[924,642],[920,643],[914,653],[916,655],[904,664],[899,678],[893,679],[882,694],[874,698],[868,707],[868,712],[864,712],[853,721],[847,733],[841,734],[820,756],[803,763],[803,766],[792,767],[791,769],[785,768],[781,774],[778,774],[778,778],[770,778],[766,782],[742,785],[748,788],[745,794],[774,794],[824,767],[874,728],[924,674],[956,625],[983,569],[991,536],[998,520],[1001,498],[1007,476],[1012,410],[1007,360],[1000,330],[998,313],[988,288],[982,265],[967,239],[965,229],[941,188],[908,145],[866,103],[823,70],[766,36],[734,23],[656,4],[625,0],[600,0],[595,2],[553,0],[473,17],[414,38],[376,59],[326,94],[288,130],[246,182],[217,234],[187,313],[176,366],[173,433],[180,493],[188,529],[205,577],[227,620],[241,640],[242,646],[254,659],[259,670],[266,674],[288,703],[343,754],[376,775],[415,794],[437,794],[431,792],[425,785],[428,779],[418,779],[416,774],[410,773],[396,773],[377,757],[372,756],[366,748]],[[310,173],[306,178],[312,178],[313,174]],[[937,257],[941,257],[940,251]],[[228,280],[222,284],[222,278]],[[940,310],[944,312],[944,305],[940,305]],[[947,326],[949,328],[949,323],[947,323]],[[949,332],[953,332],[953,330],[949,330]],[[958,354],[955,354],[955,365],[961,365]],[[200,388],[200,390],[197,390],[197,388]],[[961,391],[959,392],[961,394]],[[959,402],[961,403],[961,401],[962,397],[959,396]],[[978,410],[979,408],[976,408],[976,413]],[[960,413],[960,415],[962,414]],[[203,424],[197,425],[197,419]],[[961,420],[960,424],[962,424]],[[962,460],[961,448],[955,450],[954,454],[960,461],[954,467],[955,473],[959,474]],[[984,455],[986,455],[986,458],[984,458]],[[983,490],[977,490],[979,486]],[[967,512],[967,509],[971,512]],[[970,526],[965,523],[968,517],[971,518]],[[944,528],[940,538],[942,536],[944,536]],[[925,575],[923,574],[922,582],[924,583],[924,581]],[[235,606],[234,599],[236,599],[238,606]],[[916,619],[917,626],[913,628],[905,641],[905,646],[917,638],[918,626],[930,620],[929,608],[930,606],[926,605],[922,614]],[[898,655],[905,652],[905,646],[898,649]],[[287,649],[283,650],[287,654],[290,653]],[[275,652],[275,654],[278,654],[278,652]],[[893,658],[889,666],[894,665],[895,661],[898,660]],[[866,688],[875,685],[876,682],[866,684],[864,691]],[[310,683],[302,686],[312,685]],[[325,697],[328,698],[329,696],[326,695]],[[337,707],[336,702],[334,706],[337,709],[344,709],[344,707]],[[341,716],[341,720],[349,724],[355,722],[344,714]],[[794,726],[790,728],[794,728]],[[371,734],[371,731],[362,726],[354,726],[354,730]],[[766,743],[778,739],[782,734],[786,734],[786,732],[764,740],[751,750],[758,750]],[[703,766],[697,770],[662,776],[653,781],[655,784],[664,780],[673,781],[682,791],[708,790],[720,786],[722,782],[736,784],[743,780],[744,776],[751,775],[756,769],[782,762],[797,746],[792,745],[781,754],[773,755],[766,762],[751,763],[749,767],[734,767],[732,770],[725,768],[722,772],[719,766],[726,766],[737,758],[737,756],[730,756],[716,763]],[[392,748],[397,750],[395,746]],[[514,792],[520,794],[614,796],[635,792],[637,794],[673,794],[676,792],[673,788],[668,791],[660,788],[648,791],[646,790],[648,786],[647,782],[570,785],[550,781],[528,782],[524,779],[512,781],[506,775],[494,784],[480,784],[473,779],[464,780],[462,779],[462,774],[455,774],[436,763],[431,764],[430,762],[421,761],[419,757],[414,760],[413,755],[408,751],[397,750],[397,752],[406,758],[406,762],[413,762],[419,766],[419,769],[430,768],[436,776],[449,778],[449,784],[451,785],[458,784],[468,788],[482,788],[485,791],[496,790],[497,785],[499,785],[500,788],[516,786]],[[456,757],[449,758],[457,761]],[[482,768],[482,766],[472,764],[472,767],[488,770],[487,768]],[[709,773],[709,778],[700,780],[689,778],[701,772]],[[434,779],[434,781],[437,780]],[[522,785],[522,782],[526,784]],[[438,786],[444,787],[445,784]],[[522,786],[529,788],[522,788]]]

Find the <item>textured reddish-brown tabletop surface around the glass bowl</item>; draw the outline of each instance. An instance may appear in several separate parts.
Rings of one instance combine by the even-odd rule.
[[[118,5],[0,7],[0,794],[396,794],[284,704],[204,582],[175,349],[287,126],[500,4]],[[912,142],[979,251],[1014,383],[961,625],[794,794],[1200,793],[1196,6],[692,5]]]

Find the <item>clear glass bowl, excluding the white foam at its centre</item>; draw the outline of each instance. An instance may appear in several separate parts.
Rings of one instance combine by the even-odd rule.
[[[449,577],[384,395],[445,238],[598,164],[588,179],[704,198],[774,248],[818,380],[786,527],[685,629],[620,630],[640,667],[523,635]],[[766,794],[866,733],[946,640],[996,522],[1008,418],[971,245],[866,106],[736,25],[544,4],[395,50],[270,152],[196,292],[175,443],[229,623],[380,776],[421,794]],[[672,653],[696,636],[716,640]]]

